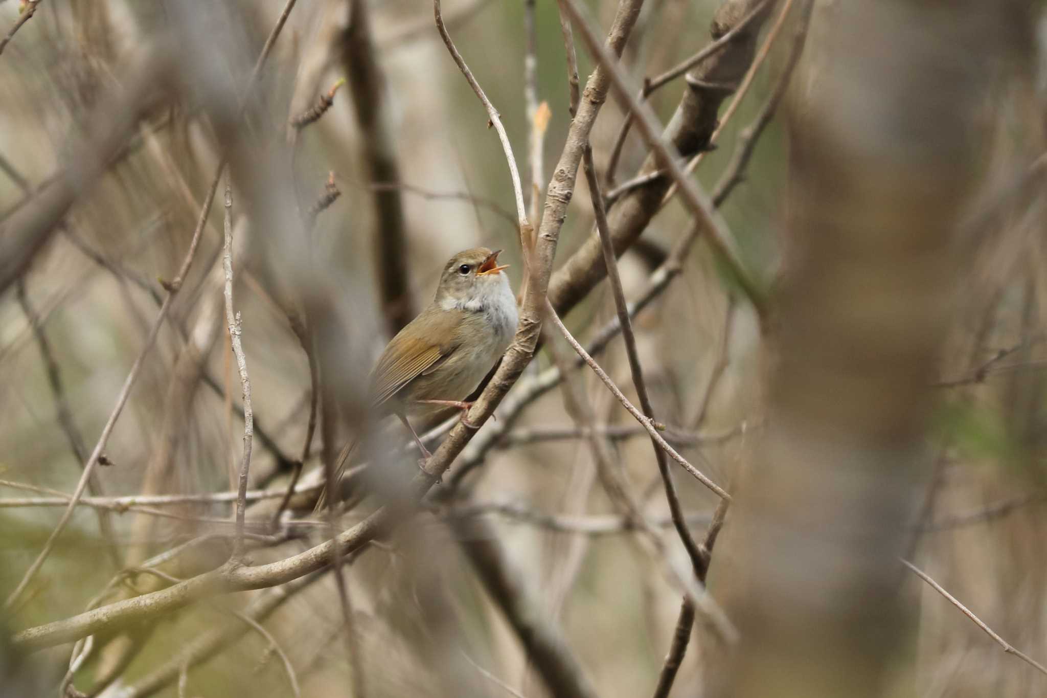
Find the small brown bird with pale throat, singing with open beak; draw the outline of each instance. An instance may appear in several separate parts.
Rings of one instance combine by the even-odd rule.
[[[396,414],[425,458],[431,454],[411,422],[429,422],[448,407],[462,409],[464,419],[470,403],[462,401],[516,332],[516,297],[502,271],[508,265],[498,265],[499,252],[476,247],[448,260],[432,302],[389,341],[371,374],[377,418]],[[335,481],[357,443],[339,454]]]

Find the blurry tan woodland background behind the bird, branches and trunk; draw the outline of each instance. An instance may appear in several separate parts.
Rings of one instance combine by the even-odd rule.
[[[17,21],[19,4],[0,2],[0,30]],[[53,239],[21,275],[20,288],[0,296],[4,595],[22,579],[58,522],[62,509],[54,504],[75,488],[77,460],[90,452],[141,351],[157,299],[164,293],[161,282],[174,276],[185,253],[229,134],[237,134],[240,149],[275,151],[286,145],[288,118],[315,104],[347,76],[354,62],[359,65],[353,4],[324,0],[294,7],[250,97],[247,117],[232,130],[216,126],[207,90],[215,85],[246,87],[250,66],[283,2],[224,3],[185,29],[188,13],[162,2],[45,0],[0,54],[0,221],[26,205],[37,187],[66,166],[76,143],[92,137],[92,125],[108,118],[112,95],[131,83],[152,43],[175,39],[176,62],[184,64],[188,75],[181,80],[190,85],[153,86],[170,87],[178,98],[160,98],[147,110],[131,131],[133,144],[76,198]],[[664,72],[709,43],[710,22],[720,4],[647,0],[623,55],[632,84],[639,86],[644,76]],[[782,4],[771,13],[761,37]],[[718,136],[718,148],[701,161],[696,177],[708,189],[731,162],[740,131],[753,122],[777,84],[802,4],[798,0],[786,18],[767,62]],[[840,4],[846,3],[816,3],[803,64],[780,107],[790,110],[790,128],[824,126],[810,110],[819,108],[819,86],[832,80],[825,71],[832,51],[839,50],[831,36],[839,26],[833,22],[841,21]],[[616,5],[611,0],[587,3],[604,30]],[[330,275],[320,288],[338,296],[335,305],[341,303],[337,313],[342,323],[336,329],[347,333],[344,363],[335,380],[349,383],[363,379],[387,341],[389,318],[405,309],[417,312],[428,302],[441,265],[453,252],[475,245],[505,248],[515,289],[524,269],[505,156],[494,131],[487,128],[482,106],[440,41],[431,5],[398,0],[366,7],[373,49],[369,55],[383,73],[384,85],[355,102],[353,85],[340,88],[324,116],[296,134],[293,161],[281,159],[286,154],[271,160],[293,173],[296,188],[274,194],[275,202],[297,196],[299,204],[311,204],[322,194],[330,172],[340,190],[340,198],[317,215],[310,242],[280,244],[309,246],[327,265]],[[447,0],[443,12],[459,49],[502,115],[530,202],[527,3]],[[542,150],[543,194],[571,115],[557,5],[537,0],[533,13],[537,98],[547,102],[552,113]],[[1043,26],[1033,12],[1021,17]],[[198,43],[183,42],[179,31],[185,30],[196,31]],[[904,523],[909,534],[919,532],[898,554],[927,570],[1012,645],[1047,659],[1042,164],[1026,174],[1043,153],[1043,82],[1039,47],[1029,39],[1031,25],[1015,31],[1022,41],[1013,42],[1010,53],[985,39],[985,55],[993,57],[992,69],[985,68],[989,85],[971,107],[979,145],[970,149],[974,154],[963,155],[971,163],[968,183],[974,183],[964,210],[952,211],[957,227],[974,230],[973,240],[958,232],[951,243],[951,253],[960,257],[956,283],[949,287],[956,291],[942,299],[941,308],[952,321],[934,369],[920,378],[941,385],[929,398],[933,405],[927,424],[918,427],[923,455],[904,495],[912,502],[906,515],[915,516],[911,522],[893,523]],[[584,85],[595,64],[577,35],[576,43]],[[978,63],[978,51],[971,46],[957,60]],[[206,82],[200,77],[205,68],[214,71],[211,87],[195,92],[194,76]],[[365,86],[360,89],[366,94]],[[687,89],[681,78],[651,96],[663,123]],[[875,108],[877,100],[872,102]],[[356,111],[361,104],[378,105],[377,126],[361,123],[366,120]],[[592,132],[601,174],[622,117],[618,100],[608,98]],[[798,257],[802,268],[803,253],[795,250],[806,244],[797,243],[790,228],[797,210],[790,197],[803,196],[797,185],[803,180],[788,176],[789,152],[786,123],[776,118],[760,135],[743,181],[721,208],[742,257],[749,268],[759,270],[772,294],[775,279],[783,277],[787,284]],[[633,129],[618,165],[618,183],[632,177],[646,154]],[[392,171],[383,172],[398,173],[401,186],[373,186],[374,163],[383,158],[394,163]],[[239,241],[233,257],[236,303],[243,318],[255,419],[250,489],[276,489],[287,486],[290,461],[303,448],[310,374],[279,288],[281,248],[266,251],[262,242],[263,229],[276,225],[275,219],[267,218],[263,207],[244,210],[252,199],[241,195],[238,176],[246,175],[232,175],[232,221]],[[236,411],[240,385],[221,305],[224,183],[191,273],[104,449],[107,460],[97,469],[97,481],[105,496],[236,489],[244,427]],[[243,188],[250,186],[258,185]],[[379,189],[384,197],[376,198]],[[402,230],[393,242],[389,216],[401,213],[383,213],[383,205],[402,211]],[[977,224],[966,223],[968,219]],[[580,173],[558,261],[595,234],[593,221]],[[627,298],[647,288],[650,274],[690,221],[688,209],[672,200],[647,226],[641,243],[622,256]],[[389,250],[396,258],[388,258]],[[386,264],[406,272],[404,305],[383,307],[379,280],[388,273],[382,270]],[[612,317],[614,302],[602,283],[571,312],[566,323],[584,339]],[[779,369],[774,351],[767,350],[773,342],[761,339],[752,307],[710,247],[699,243],[681,276],[638,316],[636,330],[659,420],[669,427],[667,438],[731,490],[740,466],[759,461],[754,443],[765,427],[767,376]],[[561,343],[561,351],[570,350]],[[636,402],[621,340],[612,340],[598,359]],[[522,380],[550,365],[548,353],[540,353]],[[61,384],[59,397],[55,380]],[[608,441],[616,467],[662,532],[666,555],[688,569],[687,555],[668,522],[645,433],[591,371],[573,371],[571,381],[583,390],[597,423],[618,434]],[[496,424],[488,422],[485,429]],[[577,430],[569,437],[552,437],[551,430],[571,432],[573,425],[563,392],[550,390],[520,412],[510,429],[513,438],[482,459],[467,447],[437,491],[450,489],[464,461],[478,460],[462,482],[466,494],[455,505],[473,510],[462,516],[493,524],[519,584],[536,601],[540,623],[562,627],[596,695],[650,695],[669,649],[680,592],[667,581],[663,566],[638,545],[636,533],[622,525],[597,477],[586,441]],[[339,443],[331,448],[340,448],[355,428],[340,426]],[[81,446],[70,445],[70,433]],[[313,481],[321,469],[322,435],[317,429],[312,456],[305,464]],[[80,456],[74,454],[77,448]],[[717,498],[682,470],[674,474],[691,530],[700,541]],[[34,506],[24,501],[30,497],[59,501]],[[286,599],[272,590],[219,596],[134,627],[115,639],[96,635],[90,652],[62,645],[28,659],[10,659],[26,685],[35,686],[21,695],[54,695],[69,668],[70,649],[84,655],[72,683],[88,695],[99,690],[110,696],[293,695],[284,658],[305,696],[357,695],[361,675],[372,696],[511,695],[485,672],[519,694],[552,695],[455,543],[464,528],[448,523],[450,505],[438,501],[346,566],[352,630],[346,628],[332,576],[307,577],[286,585]],[[15,631],[74,615],[106,588],[119,566],[139,565],[204,534],[231,531],[228,501],[152,509],[110,511],[102,518],[91,508],[77,509],[23,598],[7,610],[7,628]],[[156,516],[158,509],[169,516]],[[271,515],[272,509],[266,512]],[[249,511],[248,518],[259,533],[272,533],[264,530],[267,515],[251,519]],[[291,526],[296,534],[292,540],[260,544],[250,553],[251,561],[286,558],[324,540],[321,517],[307,510],[293,518],[315,525]],[[360,518],[356,512],[347,514],[342,527]],[[111,541],[99,534],[99,521],[111,527]],[[227,555],[222,540],[184,554],[166,573],[181,579],[221,564]],[[717,556],[730,562],[740,555],[733,550],[717,548]],[[711,571],[714,595],[718,564],[714,562]],[[948,601],[900,568],[896,575],[905,618],[893,640],[900,649],[895,648],[889,671],[890,691],[928,697],[1032,696],[1047,689],[1047,676],[1002,652]],[[133,584],[144,591],[168,582],[138,575]],[[255,613],[259,604],[275,606],[277,599],[271,613]],[[266,631],[249,627],[230,610],[258,617]],[[852,630],[863,632],[861,627]],[[179,686],[178,653],[206,633],[222,632],[229,634],[227,641],[216,643],[220,649],[213,648],[205,660],[193,661]],[[347,643],[348,633],[352,637]],[[704,674],[726,666],[715,658],[721,648],[714,635],[705,622],[696,625],[672,695],[703,695]],[[158,671],[172,667],[173,675],[154,680]],[[767,689],[763,695],[779,694]]]

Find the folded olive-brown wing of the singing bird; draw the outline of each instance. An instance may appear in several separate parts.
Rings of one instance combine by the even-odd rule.
[[[388,343],[371,376],[372,406],[379,407],[422,374],[447,360],[459,344],[461,311],[426,310]]]

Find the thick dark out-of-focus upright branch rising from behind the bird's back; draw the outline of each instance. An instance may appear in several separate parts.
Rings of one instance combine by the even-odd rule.
[[[349,0],[350,24],[343,40],[346,74],[353,93],[363,157],[373,182],[399,182],[396,135],[385,96],[385,75],[378,62],[369,3]],[[415,317],[407,273],[407,222],[398,188],[375,189],[375,268],[389,335]]]

